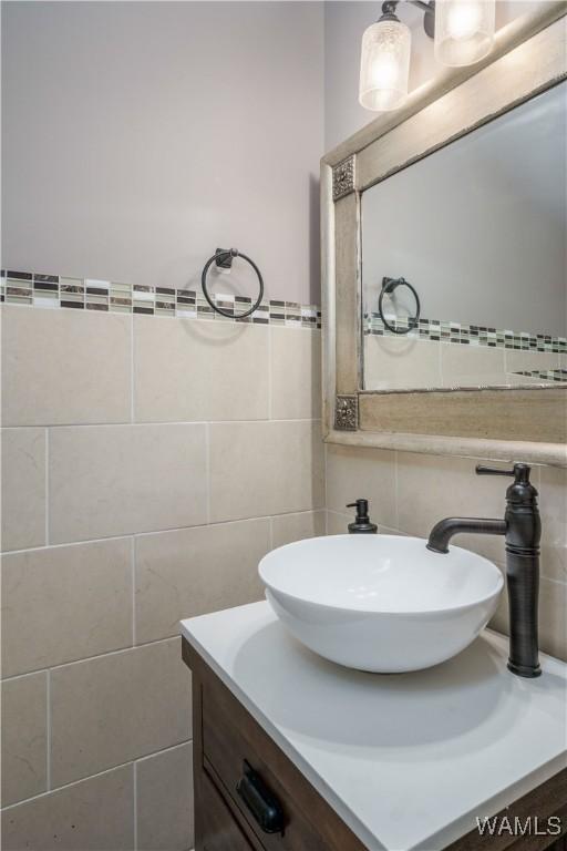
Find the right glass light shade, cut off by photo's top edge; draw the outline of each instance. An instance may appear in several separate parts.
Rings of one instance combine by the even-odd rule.
[[[435,59],[443,65],[472,65],[494,42],[495,0],[437,0]]]

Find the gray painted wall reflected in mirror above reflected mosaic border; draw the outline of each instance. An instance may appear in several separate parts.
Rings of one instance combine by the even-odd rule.
[[[402,275],[424,318],[567,336],[566,94],[561,83],[363,194],[367,310],[382,277]]]

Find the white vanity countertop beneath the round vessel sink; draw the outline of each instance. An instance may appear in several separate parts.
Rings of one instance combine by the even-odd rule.
[[[567,665],[516,677],[497,633],[391,675],[316,656],[267,603],[182,634],[372,851],[445,848],[567,766]]]

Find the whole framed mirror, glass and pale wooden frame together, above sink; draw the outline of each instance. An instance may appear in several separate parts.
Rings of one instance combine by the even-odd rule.
[[[564,16],[323,158],[328,441],[567,464]]]

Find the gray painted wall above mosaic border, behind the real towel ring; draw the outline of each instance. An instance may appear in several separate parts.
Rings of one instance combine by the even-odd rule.
[[[322,3],[3,3],[2,130],[4,266],[319,300]]]

